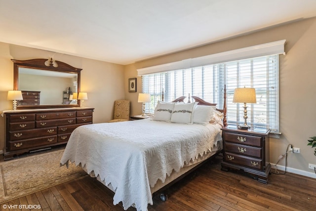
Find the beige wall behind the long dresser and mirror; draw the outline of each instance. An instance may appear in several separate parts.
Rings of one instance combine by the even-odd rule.
[[[124,99],[126,87],[122,65],[3,42],[0,42],[0,110],[12,109],[12,101],[6,99],[7,91],[13,89],[13,62],[11,59],[48,59],[50,57],[82,69],[80,89],[82,92],[88,93],[88,100],[84,101],[85,107],[95,108],[93,123],[111,120],[114,101]],[[0,117],[0,150],[4,147],[4,119]]]

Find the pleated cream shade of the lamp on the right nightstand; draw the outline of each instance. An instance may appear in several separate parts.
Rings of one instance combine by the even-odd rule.
[[[257,103],[255,88],[236,88],[233,103]]]

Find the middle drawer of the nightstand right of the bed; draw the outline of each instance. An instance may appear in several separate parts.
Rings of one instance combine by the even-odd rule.
[[[233,152],[240,155],[262,158],[262,149],[258,147],[226,142],[224,150],[227,152]]]

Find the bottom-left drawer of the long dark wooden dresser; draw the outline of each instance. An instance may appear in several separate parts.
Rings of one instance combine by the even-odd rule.
[[[46,136],[43,138],[22,140],[22,141],[10,141],[10,150],[21,150],[28,149],[32,147],[45,146],[49,144],[57,143],[57,135],[54,136]]]

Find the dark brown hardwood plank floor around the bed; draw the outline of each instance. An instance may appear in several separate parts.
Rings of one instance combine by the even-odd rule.
[[[160,201],[159,195],[154,197],[154,205],[149,205],[148,210],[316,210],[316,179],[287,172],[285,175],[271,174],[269,184],[262,184],[240,172],[221,171],[220,161],[214,159],[171,186],[166,191],[167,201]],[[96,179],[86,175],[5,205],[40,205],[43,211],[123,211],[121,203],[113,205],[113,195]],[[3,205],[0,209],[4,210]],[[136,209],[129,208],[128,211]]]

